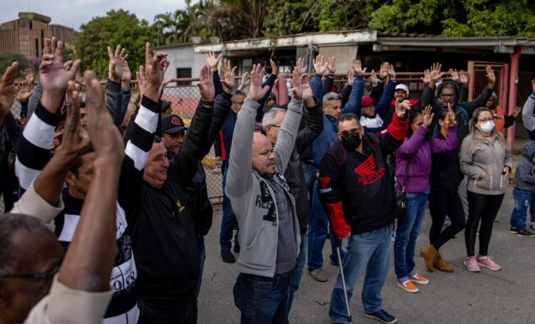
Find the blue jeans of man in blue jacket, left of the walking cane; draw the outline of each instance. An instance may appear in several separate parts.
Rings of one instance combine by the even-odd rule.
[[[323,266],[323,245],[327,235],[331,241],[331,263],[338,263],[335,249],[335,234],[329,224],[329,217],[322,209],[322,203],[317,197],[317,180],[314,182],[314,192],[312,194],[312,208],[310,209],[308,220],[308,271],[312,271]],[[342,246],[342,240],[338,239]],[[340,252],[342,259],[345,251]]]

